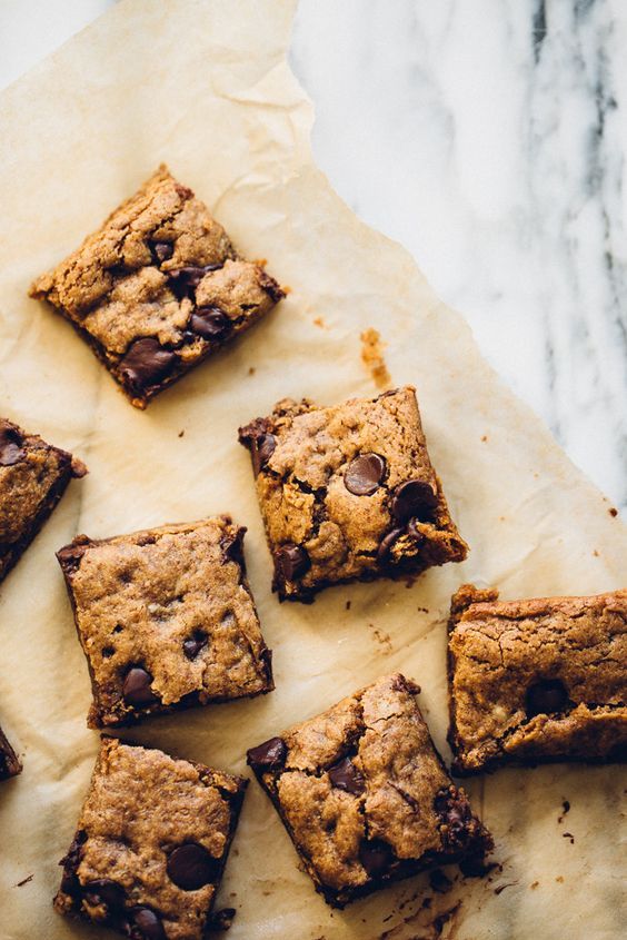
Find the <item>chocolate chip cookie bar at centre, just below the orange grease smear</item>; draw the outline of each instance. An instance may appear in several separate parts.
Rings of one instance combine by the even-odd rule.
[[[239,439],[252,456],[281,600],[466,557],[411,386],[329,408],[285,399]]]

